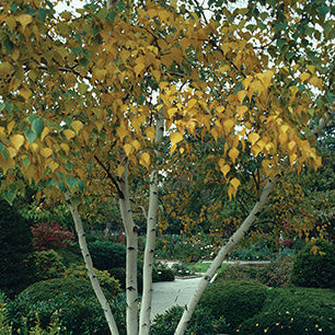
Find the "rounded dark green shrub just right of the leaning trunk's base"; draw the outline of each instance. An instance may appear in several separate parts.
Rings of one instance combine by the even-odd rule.
[[[199,305],[211,310],[215,317],[224,317],[234,330],[243,321],[261,311],[268,287],[253,281],[221,281],[210,285]]]

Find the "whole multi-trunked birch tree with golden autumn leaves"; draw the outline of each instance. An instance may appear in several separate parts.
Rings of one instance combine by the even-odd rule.
[[[81,230],[85,197],[118,197],[127,235],[127,333],[148,334],[160,170],[169,169],[176,151],[187,160],[192,146],[186,135],[198,141],[205,135],[222,139],[217,169],[231,198],[241,181],[230,172],[245,146],[252,158],[262,157],[264,189],[187,304],[176,331],[183,334],[206,285],[255,222],[282,169],[321,165],[309,126],[321,119],[321,129],[333,117],[327,2],[221,3],[218,11],[218,3],[209,1],[211,20],[197,2],[95,3],[76,15],[56,14],[56,2],[0,4],[1,190],[12,201],[24,187],[20,174],[43,182],[47,197],[67,198],[113,334],[116,325],[91,272]],[[307,35],[319,41],[317,55]],[[162,154],[164,131],[169,157]],[[129,177],[139,169],[150,181],[140,324],[138,227],[129,192]]]

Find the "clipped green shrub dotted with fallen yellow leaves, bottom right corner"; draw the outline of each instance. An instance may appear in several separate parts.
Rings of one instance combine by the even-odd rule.
[[[334,334],[334,309],[332,290],[274,289],[262,312],[245,321],[239,334]]]

